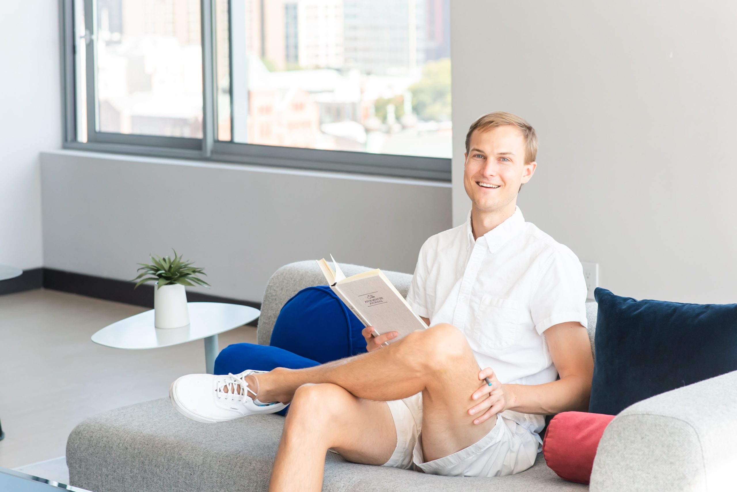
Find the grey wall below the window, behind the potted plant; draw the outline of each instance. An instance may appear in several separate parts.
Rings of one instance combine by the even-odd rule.
[[[412,273],[450,228],[450,183],[45,152],[45,266],[105,278],[175,247],[205,268],[198,292],[261,301],[283,264],[329,259]],[[192,289],[192,287],[188,287]]]

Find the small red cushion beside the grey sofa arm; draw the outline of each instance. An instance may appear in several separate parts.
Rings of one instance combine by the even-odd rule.
[[[562,412],[553,417],[542,440],[542,455],[558,477],[588,483],[594,455],[604,429],[614,415]]]

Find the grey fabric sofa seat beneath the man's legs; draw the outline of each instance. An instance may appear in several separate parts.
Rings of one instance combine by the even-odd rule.
[[[71,485],[102,492],[265,492],[284,418],[248,415],[200,424],[180,415],[169,398],[122,407],[88,418],[69,435],[66,462]],[[545,465],[506,477],[440,477],[385,466],[356,465],[326,453],[326,492],[568,492]]]

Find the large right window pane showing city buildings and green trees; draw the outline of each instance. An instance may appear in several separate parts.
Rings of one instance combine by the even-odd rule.
[[[450,0],[230,3],[220,139],[450,157]]]

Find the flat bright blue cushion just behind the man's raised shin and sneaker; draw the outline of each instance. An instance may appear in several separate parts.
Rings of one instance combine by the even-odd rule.
[[[242,373],[246,369],[272,370],[273,368],[301,369],[319,365],[319,362],[305,359],[278,347],[254,345],[253,343],[234,343],[220,351],[215,359],[215,374]],[[287,408],[277,412],[284,415]]]

